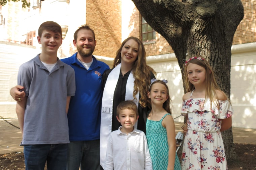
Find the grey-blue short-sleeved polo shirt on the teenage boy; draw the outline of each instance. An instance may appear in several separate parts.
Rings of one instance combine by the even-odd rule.
[[[65,110],[67,96],[75,95],[74,70],[58,58],[49,72],[38,54],[20,66],[18,85],[28,97],[21,144],[69,143]]]

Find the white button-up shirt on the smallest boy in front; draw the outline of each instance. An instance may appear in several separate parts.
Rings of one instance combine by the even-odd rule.
[[[122,126],[111,132],[104,170],[152,170],[147,138],[141,130],[122,133]]]

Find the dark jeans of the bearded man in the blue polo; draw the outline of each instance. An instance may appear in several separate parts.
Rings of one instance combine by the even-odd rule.
[[[100,170],[100,140],[70,141],[67,170]]]

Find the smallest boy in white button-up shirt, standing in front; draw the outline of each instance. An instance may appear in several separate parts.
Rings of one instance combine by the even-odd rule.
[[[117,106],[117,120],[122,126],[108,138],[104,170],[153,169],[146,135],[134,127],[138,118],[133,101],[122,101]]]

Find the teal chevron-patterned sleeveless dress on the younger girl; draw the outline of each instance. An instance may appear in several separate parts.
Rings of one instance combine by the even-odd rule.
[[[153,170],[166,170],[168,165],[168,142],[166,129],[162,126],[162,120],[165,118],[165,114],[160,121],[153,121],[147,119],[146,124],[146,137],[149,145],[149,152],[152,159]],[[174,136],[175,137],[175,136]],[[175,170],[181,170],[181,164],[176,154],[175,158]]]

